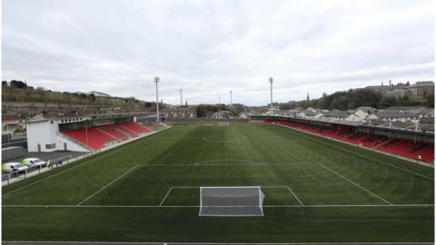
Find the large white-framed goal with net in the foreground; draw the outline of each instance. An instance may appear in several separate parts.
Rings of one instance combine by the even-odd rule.
[[[260,186],[200,187],[199,216],[263,216]]]

